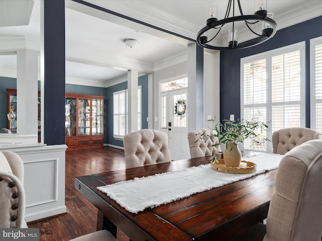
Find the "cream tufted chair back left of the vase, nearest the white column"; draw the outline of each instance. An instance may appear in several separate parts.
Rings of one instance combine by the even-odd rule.
[[[168,136],[164,132],[143,129],[123,138],[126,168],[171,162]]]

